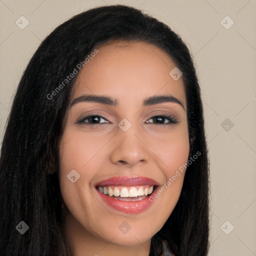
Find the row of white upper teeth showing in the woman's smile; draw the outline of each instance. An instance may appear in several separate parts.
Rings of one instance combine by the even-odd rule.
[[[109,196],[134,197],[152,193],[153,186],[99,186],[98,190],[103,194],[108,194]]]

